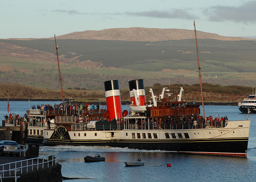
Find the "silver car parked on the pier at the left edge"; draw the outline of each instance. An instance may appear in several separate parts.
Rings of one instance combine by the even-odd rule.
[[[10,154],[10,156],[15,154],[17,157],[19,157],[20,146],[17,142],[3,140],[0,142],[0,155],[4,154]]]

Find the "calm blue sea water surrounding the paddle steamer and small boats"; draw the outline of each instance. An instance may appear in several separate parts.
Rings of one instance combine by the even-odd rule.
[[[60,101],[61,102],[61,101]],[[30,105],[60,102],[30,102]],[[11,112],[24,115],[28,102],[10,101]],[[123,106],[125,109],[125,106]],[[202,108],[201,108],[202,111]],[[205,106],[206,116],[227,116],[229,120],[245,120],[237,106]],[[0,116],[7,114],[7,102],[0,101]],[[256,114],[250,114],[251,127],[247,158],[208,155],[177,154],[167,151],[149,151],[98,146],[43,146],[60,151],[58,162],[62,165],[65,181],[255,181],[256,180]],[[100,154],[105,162],[85,163],[86,155]],[[124,161],[142,158],[144,166],[125,167]],[[172,167],[166,167],[170,163]]]

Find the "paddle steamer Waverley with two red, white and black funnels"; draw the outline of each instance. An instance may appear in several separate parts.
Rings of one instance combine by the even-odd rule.
[[[105,145],[246,157],[249,119],[219,123],[213,121],[209,116],[210,122],[205,121],[198,50],[197,60],[202,115],[199,105],[190,105],[185,102],[182,97],[182,87],[178,94],[169,93],[168,88],[163,88],[162,93],[158,96],[159,99],[150,89],[151,100],[147,102],[144,82],[141,79],[129,81],[130,111],[129,113],[127,110],[122,111],[118,80],[109,80],[104,82],[106,111],[98,112],[98,115],[95,116],[103,117],[102,121],[95,122],[94,126],[88,128],[88,123],[78,121],[80,111],[68,113],[65,110],[64,113],[45,113],[43,114],[44,119],[50,118],[53,123],[52,126],[44,128],[43,143],[45,145]],[[81,113],[81,115],[90,118],[88,112]],[[38,115],[38,117],[41,116]],[[114,121],[109,122],[106,119]]]

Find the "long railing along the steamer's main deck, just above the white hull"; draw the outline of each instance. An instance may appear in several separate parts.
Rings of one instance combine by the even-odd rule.
[[[73,123],[71,124],[71,131],[85,131],[85,130],[184,130],[184,129],[203,129],[203,128],[223,128],[226,127],[227,122],[219,123],[182,123],[182,124],[96,124],[95,126],[88,126],[88,123]]]

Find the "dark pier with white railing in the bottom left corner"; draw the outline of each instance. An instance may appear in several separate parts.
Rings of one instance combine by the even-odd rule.
[[[57,163],[57,151],[39,149],[38,157],[25,157],[23,145],[20,157],[0,156],[0,181],[34,182],[62,181],[61,165]]]

